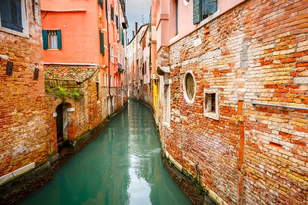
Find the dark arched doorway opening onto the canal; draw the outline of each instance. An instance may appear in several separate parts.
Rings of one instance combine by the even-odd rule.
[[[60,104],[56,107],[56,137],[58,150],[64,146],[64,141],[68,139],[68,113],[70,105]]]

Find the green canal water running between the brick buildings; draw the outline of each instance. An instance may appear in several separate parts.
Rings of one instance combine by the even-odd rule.
[[[128,107],[20,204],[191,204],[163,167],[151,112]]]

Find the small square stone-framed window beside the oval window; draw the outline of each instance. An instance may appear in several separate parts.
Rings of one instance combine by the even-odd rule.
[[[218,90],[204,89],[204,116],[219,120]]]

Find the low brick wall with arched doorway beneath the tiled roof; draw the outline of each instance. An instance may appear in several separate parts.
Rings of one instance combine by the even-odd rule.
[[[68,105],[69,108],[74,108],[73,112],[68,113],[68,140],[74,141],[85,133],[89,132],[107,118],[107,96],[109,96],[108,87],[101,87],[99,92],[99,100],[97,99],[97,81],[99,80],[99,72],[94,74],[89,80],[81,85],[77,85],[75,81],[63,80],[46,80],[46,85],[49,91],[47,93],[47,101],[49,114],[55,112],[56,107],[60,104]],[[66,99],[62,99],[56,94],[54,87],[61,86],[70,93],[66,95]],[[72,95],[74,89],[80,94],[79,99],[75,99]],[[110,88],[110,93],[115,96],[114,111],[122,107],[121,88]],[[125,101],[125,98],[123,98]],[[49,132],[53,133],[53,140],[49,143],[53,145],[54,152],[57,151],[56,138],[56,118],[50,120],[52,125]]]

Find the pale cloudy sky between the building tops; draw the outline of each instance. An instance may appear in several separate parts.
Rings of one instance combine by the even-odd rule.
[[[151,0],[126,0],[126,16],[129,28],[127,29],[127,38],[131,40],[132,31],[135,28],[135,22],[138,22],[138,29],[142,25],[142,15],[144,23],[149,23]]]

